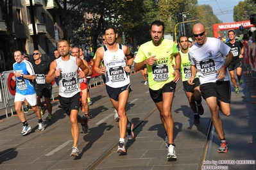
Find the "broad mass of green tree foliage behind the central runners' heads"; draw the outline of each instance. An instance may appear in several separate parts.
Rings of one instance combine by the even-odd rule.
[[[55,0],[59,8],[67,5],[67,14],[71,15],[74,30],[78,30],[73,44],[90,44],[93,51],[102,45],[101,36],[104,28],[114,25],[119,36],[125,35],[126,44],[136,45],[151,40],[149,26],[154,20],[166,24],[165,33],[173,34],[175,25],[184,20],[200,19],[207,27],[207,34],[212,36],[212,24],[221,22],[209,5],[198,5],[197,0]],[[57,3],[58,1],[58,3]],[[61,5],[60,5],[61,4]],[[76,6],[76,8],[74,8]],[[92,17],[85,17],[84,13]],[[182,17],[182,13],[186,17]],[[65,24],[65,23],[64,23]],[[194,22],[185,23],[185,33],[192,36]],[[180,33],[177,27],[177,33]],[[128,42],[129,40],[129,42]],[[130,42],[132,40],[132,42]]]

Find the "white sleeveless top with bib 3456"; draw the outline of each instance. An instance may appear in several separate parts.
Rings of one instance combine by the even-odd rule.
[[[58,93],[61,97],[73,97],[80,92],[80,83],[78,80],[77,58],[69,56],[69,60],[64,61],[62,58],[55,59],[56,70],[62,72],[58,76],[59,87]]]

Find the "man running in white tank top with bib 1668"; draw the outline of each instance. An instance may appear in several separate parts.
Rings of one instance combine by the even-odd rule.
[[[126,152],[124,137],[127,130],[128,140],[133,139],[133,123],[128,121],[125,107],[130,92],[130,78],[128,73],[133,64],[133,54],[125,45],[115,43],[117,33],[114,26],[105,29],[107,45],[96,52],[94,70],[101,75],[106,75],[106,89],[108,96],[119,115],[119,146],[117,152]],[[127,59],[127,63],[126,63]],[[104,66],[101,66],[103,60]]]

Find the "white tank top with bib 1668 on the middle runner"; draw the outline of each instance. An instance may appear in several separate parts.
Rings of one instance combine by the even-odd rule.
[[[123,52],[123,45],[117,44],[119,48],[116,52],[110,52],[106,45],[103,46],[103,63],[107,68],[106,84],[112,88],[121,88],[130,84],[130,77],[128,73],[124,71],[126,57]]]

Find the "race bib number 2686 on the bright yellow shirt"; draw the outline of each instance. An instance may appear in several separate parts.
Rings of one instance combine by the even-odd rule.
[[[153,65],[152,66],[154,81],[166,81],[169,77],[168,65]]]

